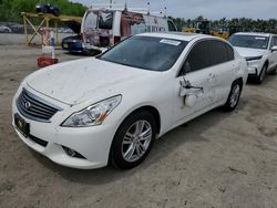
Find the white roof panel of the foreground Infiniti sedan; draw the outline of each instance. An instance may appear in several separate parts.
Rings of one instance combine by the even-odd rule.
[[[151,33],[142,33],[137,34],[140,37],[156,37],[156,38],[165,38],[165,39],[176,39],[181,41],[192,41],[196,38],[213,38],[206,34],[198,34],[198,33],[188,33],[188,32],[151,32]]]

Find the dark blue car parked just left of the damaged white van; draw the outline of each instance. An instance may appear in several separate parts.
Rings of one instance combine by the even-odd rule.
[[[84,53],[82,35],[72,35],[62,39],[62,49],[70,53]]]

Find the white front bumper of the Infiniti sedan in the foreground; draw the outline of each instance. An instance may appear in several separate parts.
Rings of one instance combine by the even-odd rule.
[[[12,125],[21,141],[33,150],[47,156],[57,164],[72,168],[92,169],[107,165],[110,147],[117,127],[115,124],[110,123],[91,127],[62,127],[59,118],[62,117],[63,112],[58,112],[50,123],[35,122],[20,114],[16,105],[17,97],[18,95],[12,101]],[[17,128],[14,114],[19,114],[30,124],[31,136],[24,137]],[[74,149],[84,158],[68,155],[63,147]]]

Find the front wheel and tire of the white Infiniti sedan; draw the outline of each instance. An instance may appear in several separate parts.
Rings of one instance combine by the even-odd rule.
[[[141,111],[131,114],[114,136],[110,163],[120,169],[137,166],[148,155],[155,135],[156,124],[150,112]]]

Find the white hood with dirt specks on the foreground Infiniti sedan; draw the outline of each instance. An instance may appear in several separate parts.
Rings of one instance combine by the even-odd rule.
[[[29,75],[27,84],[37,92],[74,105],[121,94],[136,80],[156,72],[124,66],[95,58],[64,62]]]

